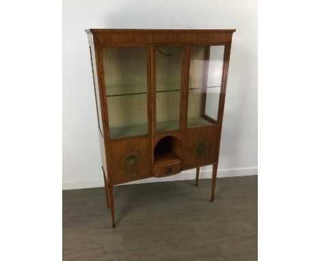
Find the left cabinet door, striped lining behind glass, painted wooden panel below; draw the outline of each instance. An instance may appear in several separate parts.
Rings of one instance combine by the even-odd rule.
[[[110,184],[152,176],[147,46],[100,49],[107,100],[108,175]]]

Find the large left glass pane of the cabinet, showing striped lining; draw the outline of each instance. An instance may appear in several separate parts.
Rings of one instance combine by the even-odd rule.
[[[103,48],[102,55],[110,139],[147,134],[146,48]]]

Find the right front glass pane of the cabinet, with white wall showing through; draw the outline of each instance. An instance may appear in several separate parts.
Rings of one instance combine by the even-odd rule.
[[[191,46],[187,128],[217,123],[224,46]]]

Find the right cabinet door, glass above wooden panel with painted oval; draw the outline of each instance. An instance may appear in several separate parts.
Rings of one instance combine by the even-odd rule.
[[[224,50],[224,45],[190,46],[184,169],[218,160]]]

